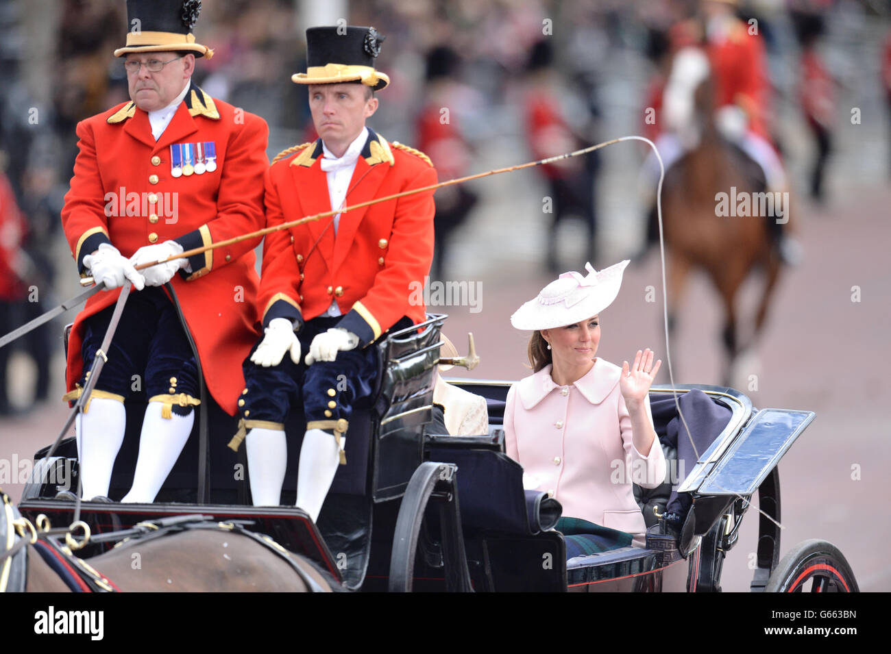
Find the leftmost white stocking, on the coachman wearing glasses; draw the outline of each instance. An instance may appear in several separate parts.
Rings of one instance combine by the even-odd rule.
[[[79,414],[75,420],[84,499],[109,494],[111,469],[124,442],[126,426],[124,403],[108,398],[92,398],[87,412]]]

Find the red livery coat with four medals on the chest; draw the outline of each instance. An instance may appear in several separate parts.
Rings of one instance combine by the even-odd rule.
[[[269,129],[262,118],[192,85],[157,142],[148,114],[133,102],[87,118],[77,133],[80,152],[61,221],[81,276],[84,255],[102,242],[129,257],[169,239],[189,250],[263,228]],[[216,145],[215,171],[171,174],[171,144],[209,141]],[[257,338],[258,243],[250,239],[192,256],[192,272],[171,280],[208,391],[230,415],[244,385],[241,361]],[[82,375],[84,320],[118,295],[119,290],[94,295],[78,314],[69,341],[69,390]],[[121,336],[126,337],[116,335]]]

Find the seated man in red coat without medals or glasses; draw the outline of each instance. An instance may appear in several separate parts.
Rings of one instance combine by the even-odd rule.
[[[365,126],[378,107],[373,92],[389,81],[374,69],[380,40],[374,28],[307,29],[307,72],[292,80],[309,85],[320,138],[285,150],[269,168],[268,226],[437,182],[426,155]],[[347,463],[352,410],[378,372],[369,345],[425,317],[411,289],[430,268],[433,215],[426,191],[266,237],[257,296],[265,335],[244,363],[243,424],[230,444],[247,442],[255,505],[280,504],[284,422],[302,403],[297,505],[318,517],[338,465]]]

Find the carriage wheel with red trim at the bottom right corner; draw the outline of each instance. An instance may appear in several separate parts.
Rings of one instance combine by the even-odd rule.
[[[783,557],[764,586],[765,593],[859,593],[854,572],[838,547],[805,540]]]

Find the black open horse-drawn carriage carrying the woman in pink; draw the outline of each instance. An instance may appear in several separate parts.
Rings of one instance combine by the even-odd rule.
[[[813,413],[757,410],[740,392],[699,384],[675,390],[681,396],[702,393],[728,420],[720,432],[707,434],[710,445],[674,484],[676,493],[691,499],[681,529],[673,529],[664,516],[670,482],[651,491],[635,488],[648,525],[646,547],[567,561],[564,537],[552,529],[560,505],[547,493],[524,490],[522,469],[504,454],[501,422],[511,383],[454,381],[486,397],[489,433],[429,432],[445,319],[430,316],[421,326],[373,345],[380,353],[378,388],[372,403],[356,408],[347,439],[347,466],[357,469],[347,474],[347,466],[341,466],[317,524],[293,506],[298,440],[289,440],[286,505],[252,506],[244,449],[239,456],[225,448],[233,418],[207,397],[197,433],[156,503],[85,502],[80,519],[93,534],[193,513],[217,521],[248,520],[249,529],[307,556],[349,590],[701,592],[721,589],[723,558],[736,544],[740,522],[757,494],[761,515],[753,591],[857,590],[844,556],[824,541],[807,541],[779,561],[777,464]],[[657,432],[664,440],[678,406],[672,388],[653,387],[650,402],[663,409]],[[127,410],[142,409],[130,403]],[[685,417],[690,422],[694,416]],[[302,433],[301,420],[292,416],[290,437]],[[137,416],[127,424],[140,422]],[[129,488],[138,438],[138,426],[128,428],[110,497],[122,497]],[[663,448],[669,469],[676,470],[677,448],[665,440]],[[48,449],[35,455],[19,510],[30,521],[43,513],[55,526],[69,524],[74,505],[54,497],[60,488],[77,488],[76,444],[73,438],[63,441],[49,458]],[[87,542],[78,554],[91,556],[110,546]]]

